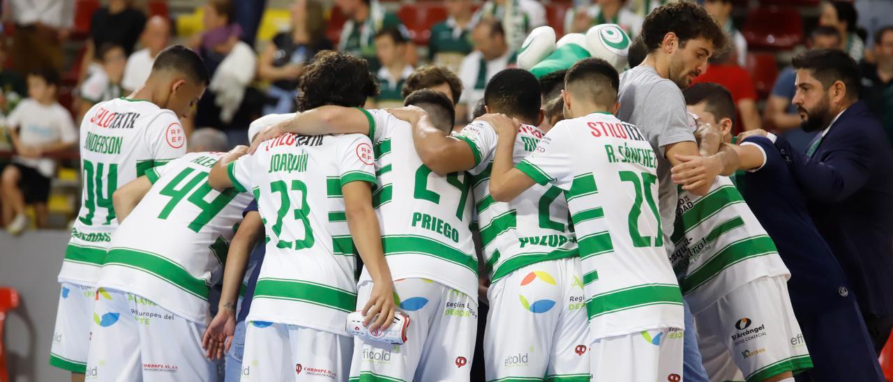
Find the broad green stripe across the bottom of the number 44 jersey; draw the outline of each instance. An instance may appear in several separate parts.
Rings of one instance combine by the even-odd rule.
[[[132,248],[111,248],[105,256],[103,265],[120,265],[142,270],[179,287],[190,295],[195,295],[204,301],[208,300],[209,288],[204,279],[193,277],[182,265],[160,254]]]

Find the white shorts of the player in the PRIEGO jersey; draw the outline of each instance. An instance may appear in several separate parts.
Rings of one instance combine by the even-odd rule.
[[[478,303],[424,278],[394,282],[399,310],[409,316],[404,345],[355,339],[351,381],[468,381],[477,336]],[[357,291],[356,306],[369,301],[372,283]]]

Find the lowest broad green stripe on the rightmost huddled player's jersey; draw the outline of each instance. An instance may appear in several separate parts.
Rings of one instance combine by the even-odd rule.
[[[762,235],[747,237],[726,245],[716,252],[713,259],[702,264],[697,270],[689,272],[689,276],[681,281],[682,293],[688,294],[698,286],[710,281],[717,275],[738,262],[770,253],[778,253],[772,238]]]

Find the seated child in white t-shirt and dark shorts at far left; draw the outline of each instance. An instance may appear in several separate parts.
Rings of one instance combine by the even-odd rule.
[[[56,102],[59,74],[54,69],[28,75],[28,98],[15,107],[6,120],[15,156],[0,175],[3,222],[12,235],[28,226],[25,205],[34,205],[38,228],[46,224],[46,200],[55,162],[42,158],[70,148],[78,141],[71,114]]]

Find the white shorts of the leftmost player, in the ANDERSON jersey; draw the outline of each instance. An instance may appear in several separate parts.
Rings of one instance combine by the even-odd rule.
[[[87,370],[90,347],[90,319],[96,289],[93,286],[62,283],[50,364],[64,370],[83,374]]]

